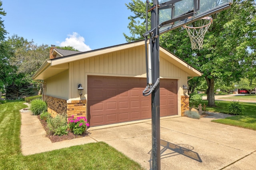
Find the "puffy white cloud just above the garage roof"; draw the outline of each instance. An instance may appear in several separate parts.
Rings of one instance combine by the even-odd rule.
[[[72,46],[79,51],[90,51],[92,50],[89,45],[84,43],[84,38],[80,36],[77,32],[73,32],[72,35],[68,34],[68,38],[64,42],[60,43],[60,46]]]

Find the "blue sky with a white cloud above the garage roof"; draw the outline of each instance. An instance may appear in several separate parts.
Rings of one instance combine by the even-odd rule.
[[[126,43],[131,0],[2,0],[8,36],[80,51]]]

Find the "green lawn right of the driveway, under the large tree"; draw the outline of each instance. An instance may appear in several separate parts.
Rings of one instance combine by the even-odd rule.
[[[227,105],[229,102],[230,101],[215,101],[216,107],[206,107],[206,111],[228,113]],[[243,115],[217,119],[212,122],[256,130],[256,103],[239,103],[244,106],[245,110]],[[203,101],[203,104],[207,105],[208,102]]]

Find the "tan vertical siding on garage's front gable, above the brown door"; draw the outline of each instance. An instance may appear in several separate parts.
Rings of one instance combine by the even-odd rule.
[[[79,72],[79,73],[78,73]],[[86,89],[86,75],[114,75],[114,76],[146,76],[146,61],[144,45],[98,55],[88,59],[70,63],[70,80],[72,81],[72,94],[69,98],[79,97],[77,87],[73,84],[82,83]],[[166,59],[160,57],[160,76],[164,78],[180,79],[180,83],[187,81],[187,73],[182,71]],[[84,90],[85,97],[87,91]]]

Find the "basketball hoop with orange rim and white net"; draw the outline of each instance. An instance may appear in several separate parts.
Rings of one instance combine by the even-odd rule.
[[[211,24],[212,24],[212,18],[206,16],[198,20],[199,27],[189,27],[186,25],[183,26],[184,28],[186,28],[188,32],[192,49],[199,49],[199,50],[202,49],[204,35],[206,34]]]

